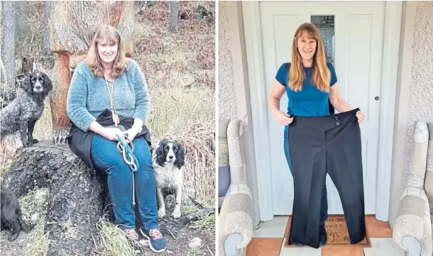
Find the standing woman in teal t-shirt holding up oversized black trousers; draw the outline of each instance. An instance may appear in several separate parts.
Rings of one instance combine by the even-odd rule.
[[[280,111],[279,108],[280,99],[284,93],[289,99],[287,113]],[[278,69],[269,98],[270,111],[278,123],[285,126],[284,151],[290,171],[292,165],[287,132],[293,120],[291,116],[327,116],[329,115],[328,99],[340,113],[353,109],[344,99],[341,99],[334,67],[325,61],[319,30],[312,23],[303,23],[297,28],[295,38],[293,38],[292,62],[284,63]],[[365,115],[358,111],[356,117],[361,123]],[[328,211],[326,185],[322,195],[319,229],[321,246],[327,243],[327,233],[324,228]]]

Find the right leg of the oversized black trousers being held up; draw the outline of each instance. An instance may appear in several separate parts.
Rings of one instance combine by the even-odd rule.
[[[339,191],[351,243],[366,236],[361,132],[356,116],[343,116],[341,127],[327,130],[327,169]]]

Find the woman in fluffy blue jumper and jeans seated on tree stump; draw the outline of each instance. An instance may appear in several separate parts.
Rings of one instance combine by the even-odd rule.
[[[143,72],[134,60],[125,57],[119,32],[111,26],[100,28],[86,60],[77,66],[70,82],[67,114],[72,128],[68,143],[92,170],[106,172],[119,228],[135,241],[138,228],[149,240],[151,250],[163,252],[165,238],[158,226],[150,135],[145,126],[149,110]],[[116,146],[116,135],[122,133],[133,142],[139,164],[134,184],[141,227],[135,226],[132,172]]]

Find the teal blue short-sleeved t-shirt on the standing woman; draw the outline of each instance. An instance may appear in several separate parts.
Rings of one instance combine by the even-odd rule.
[[[327,62],[331,72],[331,87],[336,83],[333,65]],[[278,69],[275,79],[286,89],[289,104],[287,113],[290,116],[327,116],[329,115],[329,92],[320,91],[312,84],[312,67],[305,67],[305,79],[301,91],[292,91],[288,86],[290,62],[284,63]]]

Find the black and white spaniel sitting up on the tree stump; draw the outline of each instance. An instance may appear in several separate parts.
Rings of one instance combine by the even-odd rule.
[[[23,147],[37,143],[33,139],[33,128],[42,116],[45,97],[53,89],[53,84],[47,74],[35,71],[28,74],[16,98],[0,113],[0,139],[19,130]]]

